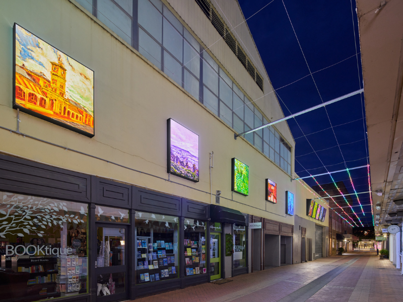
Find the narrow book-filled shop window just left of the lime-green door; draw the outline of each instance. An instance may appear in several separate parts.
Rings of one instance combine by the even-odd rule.
[[[185,218],[185,276],[206,274],[206,221]]]

